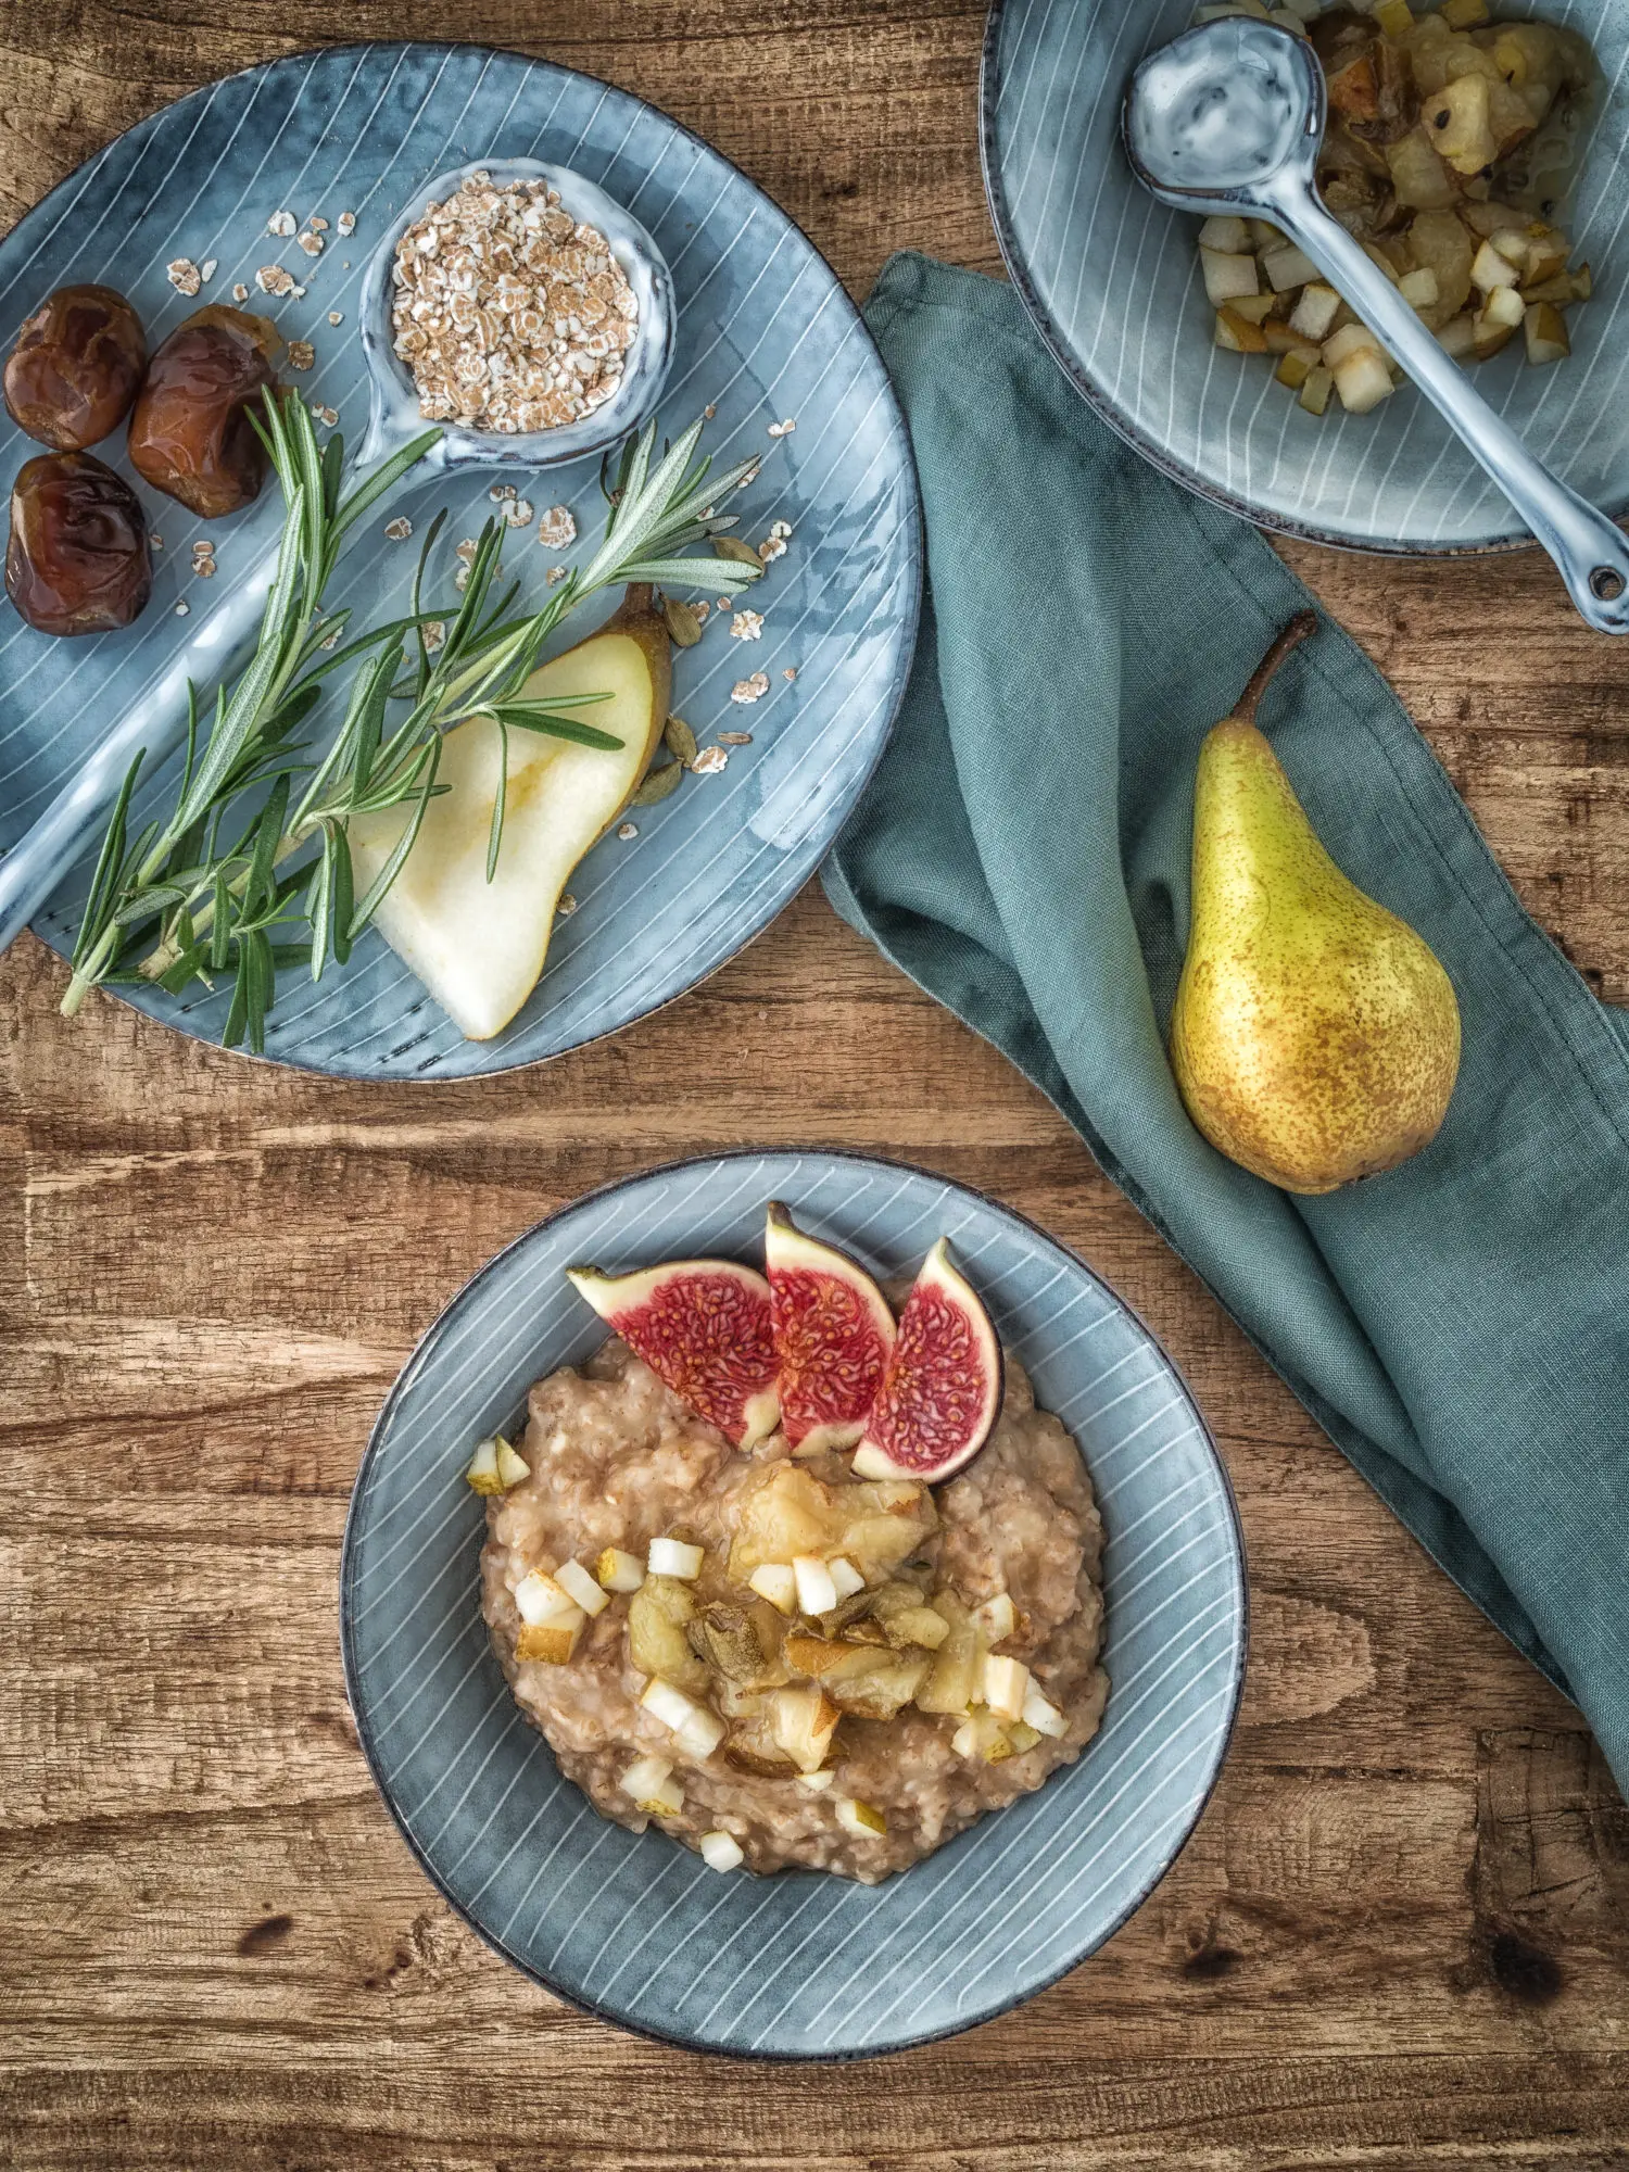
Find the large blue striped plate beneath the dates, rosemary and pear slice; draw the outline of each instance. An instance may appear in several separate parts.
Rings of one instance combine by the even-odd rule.
[[[762,452],[756,484],[734,500],[741,534],[760,541],[782,519],[791,543],[752,595],[762,639],[730,639],[717,610],[702,643],[675,656],[673,706],[697,738],[752,734],[728,769],[686,778],[639,808],[636,838],[604,838],[578,867],[576,912],[556,927],[547,971],[519,1019],[495,1040],[463,1040],[421,984],[367,934],[350,967],[321,984],[280,975],[265,1053],[337,1077],[452,1079],[539,1062],[628,1025],[704,980],[758,934],[812,873],[858,799],[904,693],[919,606],[917,480],[882,361],[832,269],[743,174],[641,100],[589,76],[478,46],[341,46],[295,54],[193,91],[87,161],[0,243],[0,345],[39,300],[70,280],[106,280],[137,304],[156,345],[202,302],[272,315],[285,339],[308,339],[315,365],[293,376],[339,413],[358,443],[367,421],[356,311],[363,269],[391,219],[424,182],[471,159],[543,159],[597,182],[652,232],[673,274],[678,348],[662,426],[673,434],[706,406],[704,450],[717,465]],[[315,261],[267,219],[291,211],[328,219]],[[356,215],[350,237],[341,211]],[[202,265],[193,300],[165,276],[172,258]],[[254,285],[282,263],[304,298],[272,300]],[[341,315],[330,326],[328,315]],[[769,437],[769,426],[795,430]],[[324,432],[319,430],[319,437]],[[0,480],[39,447],[0,411]],[[128,476],[124,441],[98,447]],[[521,493],[543,513],[565,504],[576,554],[604,528],[597,463],[558,467]],[[419,528],[450,508],[439,589],[452,545],[491,515],[491,476],[428,484],[389,508]],[[143,489],[163,536],[154,602],[126,634],[52,641],[0,613],[0,849],[15,843],[96,743],[102,719],[165,662],[182,639],[176,606],[198,595],[191,543],[211,536],[219,573],[248,567],[276,530],[276,489],[237,521],[195,521]],[[330,604],[369,617],[406,608],[417,543],[382,534],[384,515],[341,563]],[[565,552],[517,530],[506,565],[532,593]],[[430,593],[437,593],[434,589]],[[706,589],[697,591],[706,595]],[[597,613],[597,615],[604,615]],[[567,621],[558,645],[591,630]],[[732,686],[765,671],[769,693],[745,706]],[[163,788],[137,795],[135,821]],[[72,947],[87,871],[37,921],[56,951]],[[119,990],[152,1016],[219,1040],[226,995],[180,1003]]]

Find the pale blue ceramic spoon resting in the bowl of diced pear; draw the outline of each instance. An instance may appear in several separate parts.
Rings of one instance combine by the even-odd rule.
[[[1588,623],[1601,634],[1629,632],[1629,541],[1533,458],[1323,209],[1316,165],[1325,119],[1312,46],[1275,24],[1227,15],[1142,61],[1125,93],[1123,130],[1138,178],[1162,204],[1284,228],[1488,469]]]

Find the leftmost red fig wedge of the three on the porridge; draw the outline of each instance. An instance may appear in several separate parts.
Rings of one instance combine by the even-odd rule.
[[[669,1260],[634,1275],[571,1266],[567,1279],[697,1418],[736,1449],[775,1431],[769,1284],[734,1260]]]

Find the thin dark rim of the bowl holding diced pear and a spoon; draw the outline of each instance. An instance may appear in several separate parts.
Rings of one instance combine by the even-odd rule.
[[[1030,321],[1036,332],[1064,371],[1069,382],[1082,395],[1082,400],[1093,408],[1099,421],[1140,454],[1149,467],[1158,467],[1162,476],[1171,482],[1179,482],[1184,491],[1192,491],[1195,497],[1208,500],[1212,506],[1221,506],[1223,513],[1232,513],[1236,519],[1249,521],[1253,528],[1271,528],[1275,534],[1297,536],[1301,543],[1321,543],[1325,550],[1353,552],[1364,558],[1505,558],[1512,552],[1536,552],[1540,547],[1538,536],[1529,530],[1518,534],[1490,536],[1481,543],[1410,543],[1403,539],[1384,539],[1347,534],[1338,528],[1318,528],[1314,521],[1297,519],[1290,513],[1277,513],[1268,506],[1253,506],[1249,500],[1234,491],[1225,491],[1218,482],[1201,476],[1199,469],[1188,467],[1175,454],[1166,452],[1156,439],[1151,439],[1138,424],[1132,421],[1097,384],[1093,376],[1082,367],[1073,348],[1064,339],[1060,326],[1040,300],[1040,293],[1030,278],[1030,265],[1019,248],[1019,237],[1012,224],[1012,209],[1001,185],[1001,146],[997,139],[995,109],[1001,98],[1001,24],[1008,13],[1008,0],[990,0],[990,13],[984,20],[984,46],[980,50],[980,167],[984,172],[984,200],[990,213],[990,226],[995,226],[995,241],[1001,250],[1001,263],[1006,274],[1023,302]],[[1119,113],[1119,106],[1116,106]],[[1625,506],[1618,504],[1616,510],[1603,506],[1612,519],[1620,519]],[[1514,517],[1514,515],[1512,515]]]

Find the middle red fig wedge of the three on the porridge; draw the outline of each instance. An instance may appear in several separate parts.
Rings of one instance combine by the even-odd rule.
[[[836,1245],[806,1236],[769,1201],[769,1331],[780,1360],[780,1423],[793,1451],[851,1449],[893,1355],[888,1299]]]

